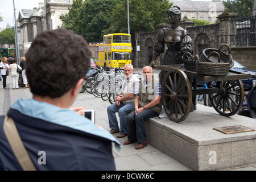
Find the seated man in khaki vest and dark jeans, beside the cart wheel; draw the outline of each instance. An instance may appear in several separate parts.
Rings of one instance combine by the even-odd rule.
[[[150,66],[143,68],[144,80],[139,85],[139,94],[134,101],[135,110],[127,115],[128,140],[124,144],[137,141],[136,149],[147,146],[145,121],[157,117],[162,111],[162,85],[158,77],[153,76]]]

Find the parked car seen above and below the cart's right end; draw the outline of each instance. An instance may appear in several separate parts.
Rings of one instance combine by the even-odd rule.
[[[249,79],[242,79],[243,82],[243,88],[244,89],[251,89],[253,88],[253,80],[256,80],[256,70],[246,68],[241,63],[238,63],[234,60],[234,66],[231,68],[233,71],[241,72],[241,73],[250,73],[251,78]]]

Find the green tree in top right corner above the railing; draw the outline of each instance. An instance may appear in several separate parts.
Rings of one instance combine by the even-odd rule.
[[[223,1],[225,12],[237,13],[239,16],[250,16],[253,14],[254,0],[227,0]]]

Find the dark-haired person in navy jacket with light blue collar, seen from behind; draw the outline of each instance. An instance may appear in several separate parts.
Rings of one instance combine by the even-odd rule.
[[[1,170],[23,169],[3,129],[10,118],[37,170],[115,170],[112,142],[118,150],[121,144],[80,115],[84,108],[69,108],[86,81],[91,57],[84,38],[70,30],[36,36],[26,55],[33,97],[19,99],[0,116]]]

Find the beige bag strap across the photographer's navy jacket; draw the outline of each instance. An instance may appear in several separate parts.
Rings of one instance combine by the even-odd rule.
[[[22,169],[24,171],[36,171],[36,168],[19,137],[13,118],[8,117],[8,115],[6,115],[5,121],[3,122],[3,131],[5,131],[6,138]]]

